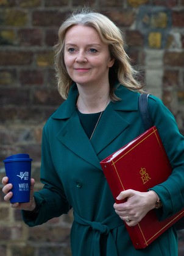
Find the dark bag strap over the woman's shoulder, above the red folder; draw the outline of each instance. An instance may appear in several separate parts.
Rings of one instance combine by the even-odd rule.
[[[150,116],[150,113],[149,113],[149,106],[147,104],[148,96],[149,94],[142,93],[140,94],[140,98],[139,98],[139,108],[140,108],[145,130],[148,130],[150,127],[154,125],[152,117]]]

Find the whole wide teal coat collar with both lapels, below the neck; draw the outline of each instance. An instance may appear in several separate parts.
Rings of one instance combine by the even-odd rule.
[[[137,110],[138,94],[125,87],[119,87],[116,90],[116,95],[122,101],[108,104],[91,141],[84,132],[76,112],[77,95],[78,90],[74,85],[69,91],[68,99],[51,116],[52,119],[67,120],[57,134],[57,138],[79,157],[101,169],[97,154],[129,126],[129,122],[119,115],[118,111]]]

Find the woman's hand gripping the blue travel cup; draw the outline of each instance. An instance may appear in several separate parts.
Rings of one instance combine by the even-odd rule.
[[[9,182],[8,177],[3,177],[2,178],[2,184],[4,187],[2,188],[2,192],[5,194],[4,196],[4,201],[9,202],[10,198],[13,196],[12,191],[10,191],[13,187],[13,185]],[[36,207],[35,204],[35,199],[34,199],[34,185],[35,185],[35,180],[30,179],[30,201],[26,203],[13,203],[10,204],[12,208],[16,208],[19,210],[26,210],[26,211],[32,211]]]

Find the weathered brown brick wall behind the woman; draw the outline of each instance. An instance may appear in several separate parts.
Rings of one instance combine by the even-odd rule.
[[[27,152],[41,187],[42,127],[63,100],[57,93],[52,46],[66,15],[83,5],[105,13],[124,30],[127,53],[147,90],[174,113],[184,134],[183,0],[0,0],[0,179],[2,160]],[[0,255],[71,255],[72,212],[29,228],[0,193]],[[184,233],[179,232],[180,255]]]

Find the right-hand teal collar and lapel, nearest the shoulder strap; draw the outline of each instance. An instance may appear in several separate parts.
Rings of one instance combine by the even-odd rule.
[[[99,154],[130,125],[124,114],[129,112],[131,115],[138,110],[138,93],[122,86],[118,87],[115,93],[121,101],[110,102],[91,139],[96,154]]]

